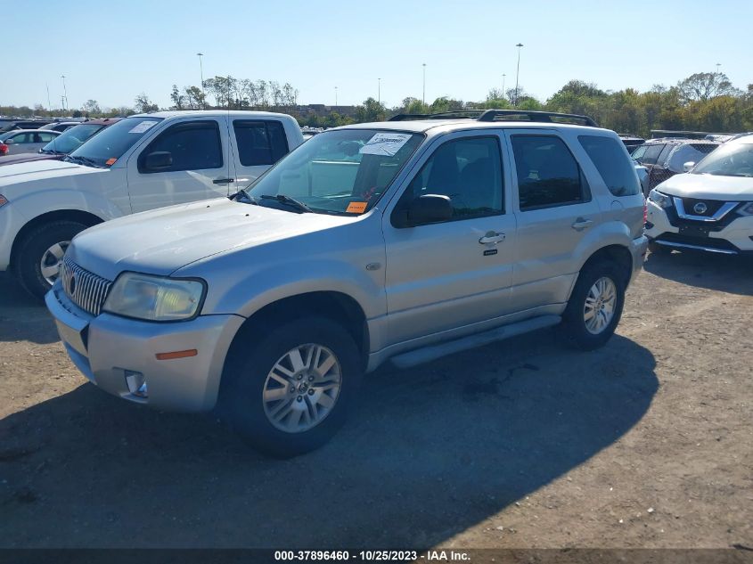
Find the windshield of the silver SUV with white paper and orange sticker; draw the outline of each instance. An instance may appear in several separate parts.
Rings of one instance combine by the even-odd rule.
[[[245,191],[261,205],[287,199],[299,211],[363,214],[380,199],[423,135],[340,129],[315,135]],[[289,202],[290,203],[290,202]]]

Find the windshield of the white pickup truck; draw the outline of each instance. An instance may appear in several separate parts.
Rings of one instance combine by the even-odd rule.
[[[70,158],[80,157],[97,167],[110,167],[161,120],[151,117],[121,119],[71,152]]]

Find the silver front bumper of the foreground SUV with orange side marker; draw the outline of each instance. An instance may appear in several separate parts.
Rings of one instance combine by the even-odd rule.
[[[244,321],[239,315],[200,315],[179,323],[94,317],[65,296],[60,282],[45,302],[71,361],[86,378],[114,396],[180,412],[215,406],[225,356]],[[192,348],[196,356],[157,360],[159,353]],[[144,375],[147,397],[129,391],[127,371]]]

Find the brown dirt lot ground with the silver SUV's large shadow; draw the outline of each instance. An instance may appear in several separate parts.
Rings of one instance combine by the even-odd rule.
[[[381,369],[291,461],[107,396],[0,278],[4,547],[753,546],[753,261],[651,256],[618,336]]]

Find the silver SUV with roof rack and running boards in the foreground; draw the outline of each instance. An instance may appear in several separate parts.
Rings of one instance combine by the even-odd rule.
[[[73,363],[290,456],[390,359],[556,324],[601,347],[647,245],[618,135],[541,112],[430,118],[331,129],[229,199],[79,234],[46,296]]]

